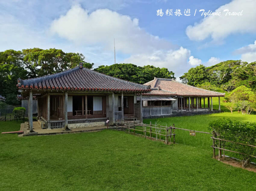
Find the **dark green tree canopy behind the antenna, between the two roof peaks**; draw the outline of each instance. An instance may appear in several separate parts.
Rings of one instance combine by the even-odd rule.
[[[167,68],[159,68],[154,66],[136,66],[134,64],[113,64],[110,66],[99,66],[94,69],[97,72],[106,74],[108,76],[117,77],[130,82],[144,84],[154,77],[172,78],[175,79],[174,73]]]

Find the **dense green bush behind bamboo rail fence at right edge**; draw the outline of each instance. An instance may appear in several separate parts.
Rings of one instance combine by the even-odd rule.
[[[221,118],[211,121],[209,123],[209,129],[215,131],[217,138],[237,143],[256,145],[256,123],[231,121],[230,119]],[[222,147],[231,151],[237,151],[253,156],[256,155],[255,147],[229,142],[223,143],[223,141],[217,141],[217,143],[219,143],[219,146],[222,144]],[[239,159],[241,160],[243,167],[249,162],[250,158],[250,156],[239,154]]]

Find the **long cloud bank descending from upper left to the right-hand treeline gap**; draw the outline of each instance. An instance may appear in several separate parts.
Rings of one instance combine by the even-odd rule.
[[[166,67],[175,72],[176,77],[186,72],[191,63],[201,62],[193,56],[191,63],[188,62],[190,50],[147,33],[139,26],[138,18],[108,9],[89,13],[75,5],[52,22],[50,31],[77,44],[101,46],[105,52],[113,51],[115,38],[116,51],[127,54],[121,62]]]

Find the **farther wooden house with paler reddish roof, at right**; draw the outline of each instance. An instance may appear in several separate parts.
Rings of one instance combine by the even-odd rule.
[[[173,116],[178,113],[186,115],[185,112],[212,111],[212,97],[219,97],[220,111],[220,97],[225,96],[225,93],[204,90],[173,79],[155,77],[154,80],[144,85],[151,87],[150,92],[142,94],[144,118]],[[137,97],[137,100],[140,101],[140,97]]]

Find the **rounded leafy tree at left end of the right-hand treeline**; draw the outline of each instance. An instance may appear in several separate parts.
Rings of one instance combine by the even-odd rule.
[[[190,68],[180,79],[183,83],[196,86],[209,81],[209,73],[205,66],[200,64],[195,68]]]

